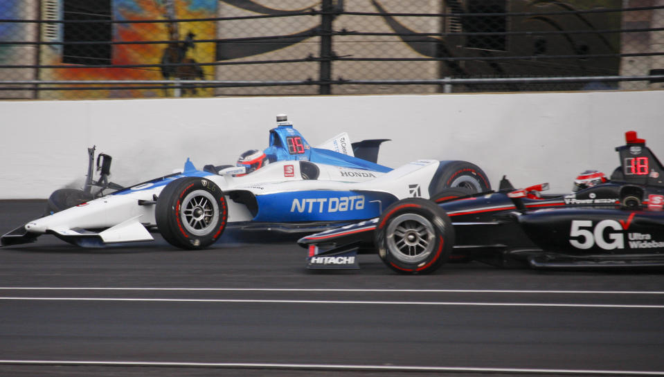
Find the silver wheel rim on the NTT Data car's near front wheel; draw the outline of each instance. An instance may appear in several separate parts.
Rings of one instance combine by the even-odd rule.
[[[190,192],[182,200],[180,219],[182,226],[192,235],[207,235],[219,220],[219,205],[207,191]]]

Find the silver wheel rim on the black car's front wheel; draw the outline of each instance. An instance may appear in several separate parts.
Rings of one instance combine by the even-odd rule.
[[[386,228],[387,248],[406,263],[419,263],[429,257],[436,243],[431,221],[419,214],[402,214]]]

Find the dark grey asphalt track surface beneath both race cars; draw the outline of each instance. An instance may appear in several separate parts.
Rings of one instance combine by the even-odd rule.
[[[0,201],[0,232],[42,201]],[[664,272],[378,257],[311,272],[290,241],[0,248],[0,376],[664,374]]]

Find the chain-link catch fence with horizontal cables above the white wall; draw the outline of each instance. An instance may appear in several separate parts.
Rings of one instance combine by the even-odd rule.
[[[0,98],[664,87],[664,0],[0,0],[0,17]]]

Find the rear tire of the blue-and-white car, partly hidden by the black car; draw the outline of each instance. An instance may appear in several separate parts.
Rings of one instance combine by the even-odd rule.
[[[463,187],[472,193],[491,190],[487,174],[474,163],[467,161],[440,161],[438,171],[431,181],[429,194],[438,194],[451,187]]]

